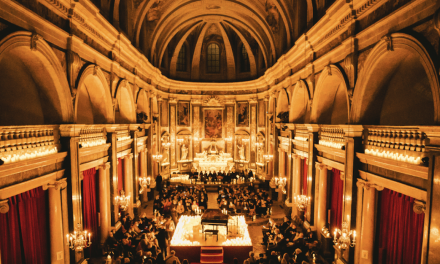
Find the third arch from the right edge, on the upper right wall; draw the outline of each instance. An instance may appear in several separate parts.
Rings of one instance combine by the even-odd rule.
[[[289,123],[304,123],[310,118],[310,90],[304,80],[293,88],[290,100]]]

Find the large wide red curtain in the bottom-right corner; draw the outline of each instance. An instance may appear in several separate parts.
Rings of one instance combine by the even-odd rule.
[[[425,214],[414,213],[414,198],[384,189],[378,205],[379,263],[420,264]]]

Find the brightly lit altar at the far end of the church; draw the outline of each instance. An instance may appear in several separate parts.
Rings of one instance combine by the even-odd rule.
[[[224,153],[216,142],[204,149],[203,153],[196,153],[193,166],[197,171],[231,171],[234,159],[230,153]]]

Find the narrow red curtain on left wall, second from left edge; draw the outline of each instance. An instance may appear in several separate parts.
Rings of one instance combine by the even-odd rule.
[[[84,230],[92,233],[92,245],[84,252],[95,256],[99,251],[99,227],[98,227],[98,180],[96,169],[92,168],[83,172],[83,220]],[[93,253],[93,254],[91,254]]]

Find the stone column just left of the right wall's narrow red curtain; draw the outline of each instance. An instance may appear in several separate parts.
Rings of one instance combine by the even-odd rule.
[[[321,237],[321,230],[327,223],[327,166],[316,163],[316,169],[319,170],[317,232]]]

